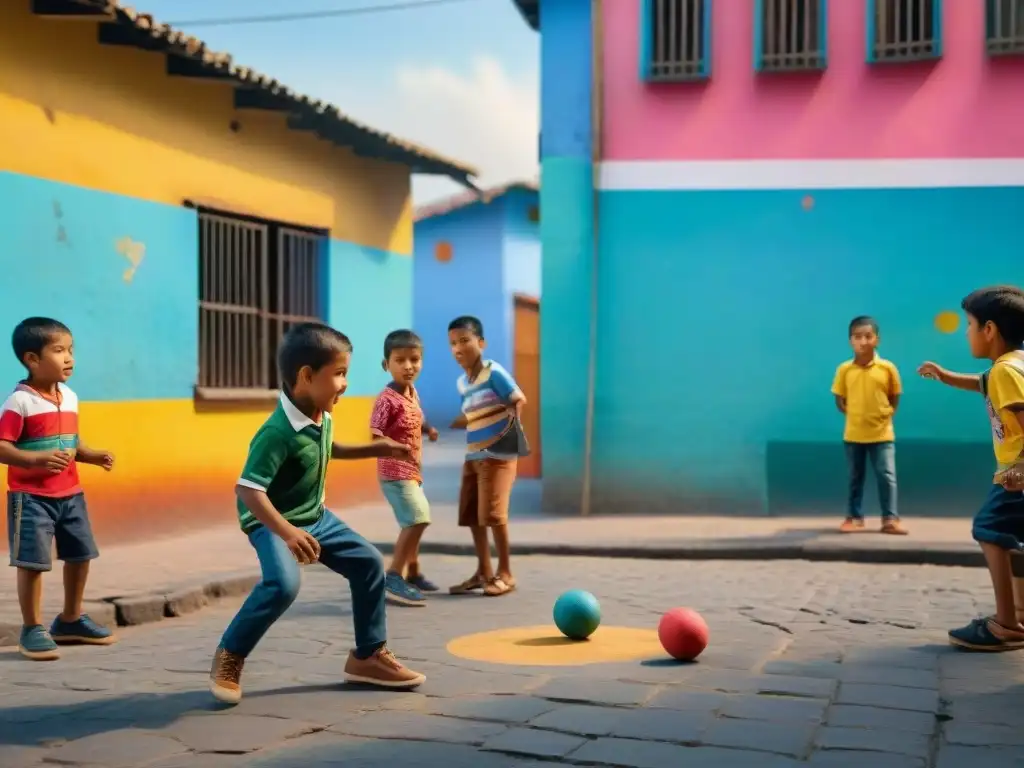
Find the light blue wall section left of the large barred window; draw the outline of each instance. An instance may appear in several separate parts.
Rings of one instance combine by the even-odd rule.
[[[184,208],[0,173],[0,388],[25,376],[11,330],[41,314],[72,329],[82,399],[191,397],[197,231],[196,213]],[[130,283],[122,238],[145,246]]]

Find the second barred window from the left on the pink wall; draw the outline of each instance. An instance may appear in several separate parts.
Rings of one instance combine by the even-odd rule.
[[[758,0],[755,67],[759,72],[823,70],[825,0]]]

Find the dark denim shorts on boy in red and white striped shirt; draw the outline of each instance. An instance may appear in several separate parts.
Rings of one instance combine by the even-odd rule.
[[[7,492],[7,543],[10,564],[28,570],[51,570],[50,548],[57,559],[84,562],[99,557],[92,538],[85,495],[51,499],[24,492]]]

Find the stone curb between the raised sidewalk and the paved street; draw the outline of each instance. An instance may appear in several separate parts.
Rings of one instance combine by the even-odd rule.
[[[374,545],[382,554],[394,551],[393,543]],[[423,542],[420,551],[427,555],[474,555],[471,543]],[[811,562],[848,562],[889,565],[946,565],[969,568],[985,567],[985,559],[970,544],[943,546],[878,546],[851,547],[846,544],[812,542],[782,544],[777,542],[707,543],[650,545],[646,543],[604,544],[541,544],[513,545],[517,556],[549,555],[563,557],[604,557],[638,560],[806,560]],[[259,582],[259,571],[218,575],[208,582],[172,585],[162,590],[126,593],[87,601],[86,611],[96,622],[108,627],[136,627],[183,616],[202,610],[225,597],[246,595]],[[20,624],[0,621],[0,647],[17,645]]]

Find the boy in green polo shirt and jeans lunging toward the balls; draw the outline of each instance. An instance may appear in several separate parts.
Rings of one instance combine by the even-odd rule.
[[[220,701],[242,699],[242,668],[266,631],[299,593],[299,565],[317,560],[348,580],[355,648],[345,664],[350,682],[413,688],[424,676],[387,649],[384,563],[380,553],[324,506],[331,459],[407,457],[410,446],[378,439],[334,442],[331,412],[347,386],[352,344],[318,323],[294,327],[281,342],[284,391],[249,445],[236,486],[239,522],[259,557],[262,581],[221,638],[210,672]]]

